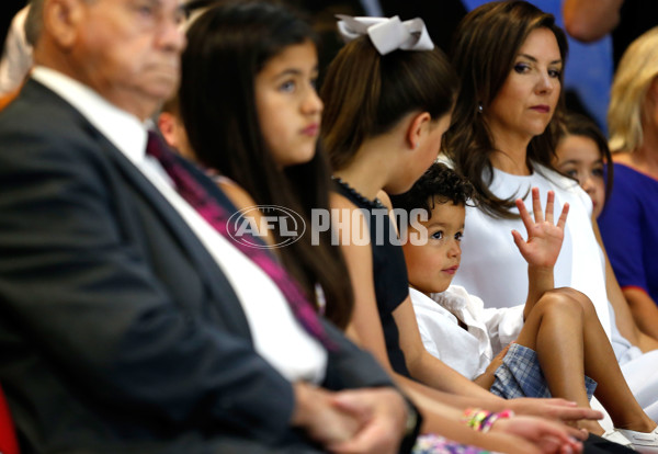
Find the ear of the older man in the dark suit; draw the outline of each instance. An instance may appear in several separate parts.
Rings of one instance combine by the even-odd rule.
[[[64,49],[70,49],[78,38],[83,20],[83,0],[45,0],[44,32]]]

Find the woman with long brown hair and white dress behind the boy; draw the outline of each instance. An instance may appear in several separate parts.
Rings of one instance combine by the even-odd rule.
[[[567,57],[564,32],[551,14],[526,1],[491,1],[464,18],[451,54],[462,90],[443,150],[476,186],[480,202],[466,207],[463,271],[454,283],[486,295],[488,307],[523,304],[527,285],[519,276],[527,263],[509,236],[524,228],[514,200],[522,196],[531,209],[532,188],[554,191],[557,203],[570,204],[555,283],[591,299],[633,394],[658,419],[653,412],[658,408],[658,342],[639,329],[628,309],[592,219],[590,197],[553,161]],[[626,229],[617,237],[634,236]]]

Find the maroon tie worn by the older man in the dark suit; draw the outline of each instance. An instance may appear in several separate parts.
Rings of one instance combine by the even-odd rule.
[[[232,245],[247,256],[252,262],[263,270],[272,281],[279,286],[281,293],[287,300],[293,313],[302,326],[314,338],[319,340],[327,349],[334,349],[333,342],[327,337],[325,328],[320,324],[316,310],[313,308],[308,298],[299,285],[293,281],[274,258],[263,249],[251,248],[240,241],[235,241],[229,232],[229,228],[235,230],[235,225],[228,223],[229,213],[206,190],[195,180],[195,178],[177,160],[173,152],[162,141],[157,133],[148,133],[148,143],[146,152],[156,158],[169,178],[175,184],[178,193],[220,235],[223,235]],[[248,232],[240,234],[242,236]],[[254,239],[256,241],[256,239]]]

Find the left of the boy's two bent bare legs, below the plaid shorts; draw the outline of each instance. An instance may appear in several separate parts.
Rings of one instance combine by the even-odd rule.
[[[585,389],[583,340],[582,307],[566,294],[552,291],[535,304],[517,343],[537,353],[553,396],[589,407]],[[594,434],[604,432],[595,421],[581,421],[579,427]]]

